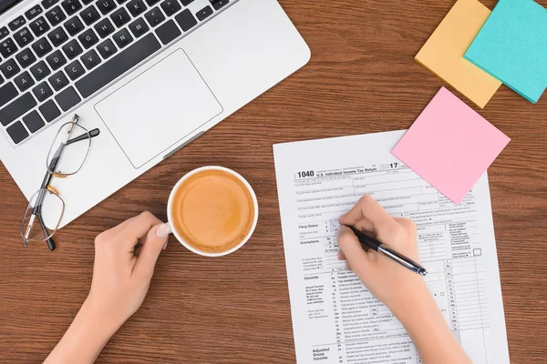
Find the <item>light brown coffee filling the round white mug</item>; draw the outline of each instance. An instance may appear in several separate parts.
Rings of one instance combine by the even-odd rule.
[[[203,169],[172,193],[171,226],[192,248],[222,253],[240,245],[254,227],[257,211],[249,187],[223,169]]]

